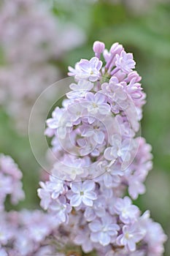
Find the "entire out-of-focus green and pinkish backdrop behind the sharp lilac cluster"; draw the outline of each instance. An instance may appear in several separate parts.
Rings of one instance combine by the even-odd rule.
[[[142,135],[152,145],[153,169],[147,192],[136,204],[142,211],[150,209],[170,235],[169,25],[169,0],[0,1],[0,151],[23,171],[26,200],[18,208],[39,207],[36,189],[42,173],[28,140],[36,98],[66,78],[69,65],[90,59],[95,40],[107,48],[120,42],[134,53],[147,92]],[[169,241],[165,255],[170,255]]]

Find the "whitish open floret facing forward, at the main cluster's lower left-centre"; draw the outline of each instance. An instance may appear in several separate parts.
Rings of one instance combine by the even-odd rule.
[[[94,181],[72,182],[70,185],[72,195],[69,195],[71,206],[80,206],[83,203],[85,206],[93,206],[93,200],[96,200]]]

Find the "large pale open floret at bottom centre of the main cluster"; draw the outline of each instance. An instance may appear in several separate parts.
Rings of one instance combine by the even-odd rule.
[[[107,246],[112,240],[115,240],[117,230],[120,229],[109,214],[101,217],[101,219],[93,220],[93,222],[90,222],[89,227],[91,230],[91,241],[98,242],[102,246]]]

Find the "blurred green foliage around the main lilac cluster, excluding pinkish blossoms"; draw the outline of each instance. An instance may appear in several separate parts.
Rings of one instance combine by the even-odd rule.
[[[42,0],[45,1],[45,0]],[[142,119],[142,136],[152,145],[153,170],[147,177],[147,192],[137,200],[142,211],[150,209],[151,217],[161,222],[170,235],[170,1],[76,1],[48,0],[56,17],[71,20],[85,32],[86,42],[70,50],[56,63],[66,77],[67,66],[82,58],[90,59],[95,40],[123,44],[134,53],[136,70],[142,76],[147,93]],[[0,150],[10,154],[21,170],[26,201],[19,207],[36,208],[39,165],[28,137],[15,130],[5,110],[0,112]],[[170,255],[169,241],[166,256]]]

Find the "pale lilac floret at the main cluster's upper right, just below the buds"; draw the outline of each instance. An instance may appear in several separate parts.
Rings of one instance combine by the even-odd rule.
[[[122,50],[120,55],[116,55],[115,61],[116,67],[121,69],[123,72],[128,74],[135,67],[135,61],[133,59],[132,53],[125,53],[125,50]]]

